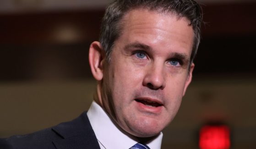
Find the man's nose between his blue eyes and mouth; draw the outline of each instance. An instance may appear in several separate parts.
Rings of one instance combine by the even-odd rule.
[[[165,76],[163,67],[149,66],[143,79],[143,86],[153,90],[163,89],[165,87]]]

